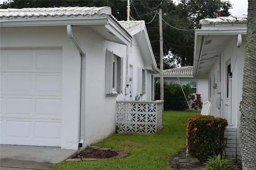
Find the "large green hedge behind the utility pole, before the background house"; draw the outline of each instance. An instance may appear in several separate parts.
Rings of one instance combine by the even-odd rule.
[[[193,90],[189,84],[182,86],[184,93],[190,101]],[[155,100],[160,100],[160,82],[155,81]],[[184,111],[188,109],[187,101],[184,97],[180,84],[164,81],[164,110]]]

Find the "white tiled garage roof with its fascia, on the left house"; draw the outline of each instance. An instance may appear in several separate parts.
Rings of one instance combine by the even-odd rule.
[[[108,6],[0,9],[0,24],[1,27],[94,26],[94,30],[106,40],[128,45],[132,39],[132,35],[112,16]],[[119,39],[115,38],[117,36]]]

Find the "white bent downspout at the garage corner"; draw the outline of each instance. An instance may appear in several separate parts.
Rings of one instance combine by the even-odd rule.
[[[71,25],[67,25],[67,33],[68,33],[68,37],[70,38],[70,40],[72,40],[72,42],[74,43],[74,45],[76,46],[76,48],[78,49],[81,55],[80,140],[79,140],[78,146],[82,147],[84,144],[84,131],[85,131],[84,120],[85,120],[86,54],[85,54],[84,48],[82,47],[80,42],[77,40],[76,36],[74,36]]]

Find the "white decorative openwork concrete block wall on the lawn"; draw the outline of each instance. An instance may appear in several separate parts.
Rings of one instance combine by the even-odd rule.
[[[117,101],[119,133],[156,134],[162,129],[164,101]]]

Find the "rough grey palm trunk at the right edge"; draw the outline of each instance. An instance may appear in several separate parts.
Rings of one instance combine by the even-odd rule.
[[[256,1],[248,0],[240,139],[243,170],[256,169]]]

